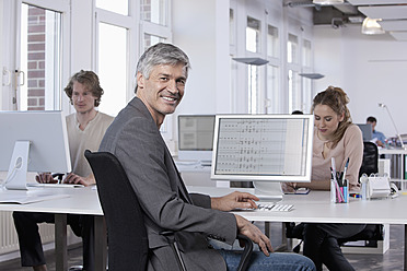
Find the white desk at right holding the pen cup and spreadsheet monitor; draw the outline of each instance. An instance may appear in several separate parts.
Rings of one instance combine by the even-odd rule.
[[[207,193],[219,197],[232,190],[247,191],[253,189],[231,189],[210,187],[188,187],[189,192]],[[309,195],[286,195],[284,203],[294,204],[290,212],[239,211],[237,214],[249,221],[265,222],[309,222],[309,223],[367,223],[367,224],[403,224],[404,241],[407,244],[407,196],[395,199],[362,201],[350,199],[349,203],[332,203],[328,191],[311,191]],[[404,249],[404,270],[407,270],[407,248]]]

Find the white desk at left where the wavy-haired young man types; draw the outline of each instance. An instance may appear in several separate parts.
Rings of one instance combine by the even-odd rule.
[[[2,193],[25,191],[2,191]],[[95,215],[95,270],[106,270],[106,228],[97,191],[86,188],[36,188],[28,193],[62,193],[68,198],[47,200],[30,204],[0,204],[0,211],[55,213],[56,270],[68,270],[67,214]]]

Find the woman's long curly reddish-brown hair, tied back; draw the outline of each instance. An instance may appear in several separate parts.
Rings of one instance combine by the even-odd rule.
[[[325,91],[319,92],[314,97],[312,111],[314,111],[315,106],[317,105],[326,105],[329,106],[338,116],[344,114],[344,119],[339,122],[338,129],[334,132],[333,139],[330,140],[330,149],[334,149],[338,144],[344,137],[346,129],[348,129],[352,123],[352,118],[350,117],[347,104],[349,104],[348,95],[342,91],[342,89],[332,85]]]

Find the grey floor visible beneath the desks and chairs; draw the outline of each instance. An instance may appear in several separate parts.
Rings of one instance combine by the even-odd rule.
[[[264,223],[258,223],[264,227]],[[271,244],[276,248],[280,245],[281,223],[271,224]],[[397,271],[403,270],[403,225],[391,225],[391,248],[384,255],[346,255],[357,271]],[[400,238],[402,237],[402,238]],[[69,267],[82,263],[81,247],[71,247],[68,251]],[[55,270],[54,251],[46,252],[48,270]],[[28,271],[31,268],[21,268],[20,260],[10,260],[0,263],[0,270],[4,271]]]

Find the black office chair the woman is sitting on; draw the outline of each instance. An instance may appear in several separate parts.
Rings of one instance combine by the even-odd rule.
[[[379,172],[377,145],[372,142],[364,141],[363,142],[363,161],[359,169],[359,177],[362,176],[362,174],[367,174],[368,176],[370,176],[371,174],[376,174],[377,172]],[[377,240],[383,240],[383,227],[384,226],[382,224],[368,224],[362,232],[349,238],[338,239],[338,244],[342,246],[344,244],[348,241],[365,240],[367,246],[374,247],[377,245]],[[298,225],[295,225],[295,223],[292,223],[292,222],[286,223],[287,238],[302,239],[302,232],[303,232],[302,223]],[[294,252],[299,252],[300,246],[294,247],[293,250]]]

